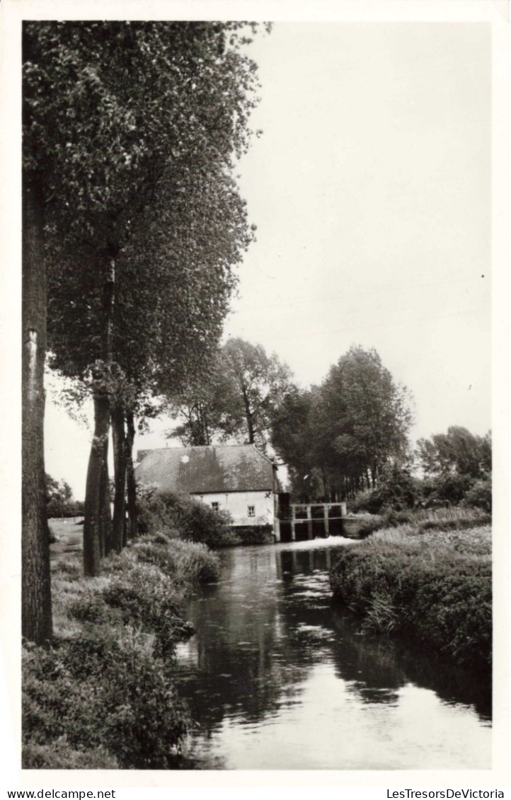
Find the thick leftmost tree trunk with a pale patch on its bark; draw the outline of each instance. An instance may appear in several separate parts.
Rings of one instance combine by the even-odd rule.
[[[22,635],[36,644],[52,636],[50,549],[44,469],[46,270],[42,202],[23,182],[22,208]]]

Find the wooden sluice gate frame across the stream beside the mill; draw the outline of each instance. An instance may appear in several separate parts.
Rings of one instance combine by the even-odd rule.
[[[277,542],[305,542],[344,534],[345,502],[286,503],[282,494],[280,497]]]

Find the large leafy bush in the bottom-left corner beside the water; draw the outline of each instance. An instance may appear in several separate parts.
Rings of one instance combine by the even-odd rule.
[[[23,658],[24,762],[48,760],[41,746],[65,738],[82,767],[94,768],[99,750],[122,768],[171,767],[189,720],[166,663],[116,632],[55,644]]]

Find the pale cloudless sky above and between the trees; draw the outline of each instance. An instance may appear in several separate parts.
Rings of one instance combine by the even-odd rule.
[[[490,45],[484,22],[277,22],[250,46],[257,231],[224,341],[262,344],[302,386],[375,347],[413,395],[413,440],[491,427]],[[91,430],[51,392],[45,435],[46,470],[82,498]]]

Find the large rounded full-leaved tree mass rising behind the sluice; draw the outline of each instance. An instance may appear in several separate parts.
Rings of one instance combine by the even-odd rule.
[[[408,458],[409,396],[376,350],[352,346],[320,386],[284,394],[273,416],[276,450],[299,496],[339,500],[376,486]]]

